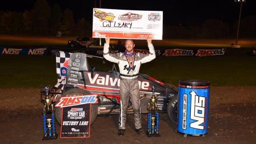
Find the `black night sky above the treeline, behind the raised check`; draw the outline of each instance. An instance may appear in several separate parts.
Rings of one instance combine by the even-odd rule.
[[[36,0],[27,1],[5,1],[1,3],[0,11],[31,10]],[[97,7],[99,7],[99,0]],[[58,3],[62,10],[69,8],[73,11],[76,19],[85,17],[92,19],[94,0],[49,0],[50,5]],[[15,5],[14,5],[15,3]],[[224,22],[233,22],[238,18],[239,3],[234,0],[102,0],[102,8],[127,9],[127,10],[161,10],[163,11],[163,22],[170,24],[182,23],[185,25],[200,24],[205,19],[215,18]],[[248,15],[256,15],[256,1],[247,0],[243,4],[242,18]]]

